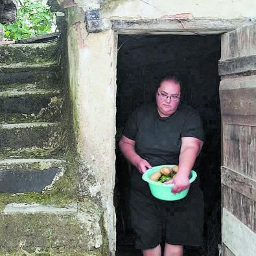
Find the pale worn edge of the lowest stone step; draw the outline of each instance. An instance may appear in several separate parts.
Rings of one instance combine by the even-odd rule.
[[[76,214],[78,204],[69,204],[65,207],[54,207],[51,205],[40,205],[37,203],[10,203],[3,209],[3,215],[15,214]]]

